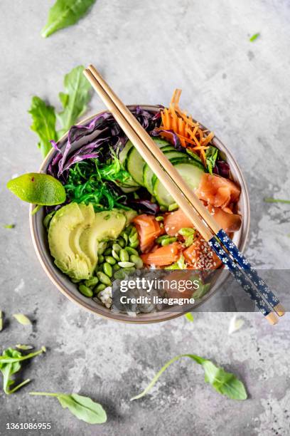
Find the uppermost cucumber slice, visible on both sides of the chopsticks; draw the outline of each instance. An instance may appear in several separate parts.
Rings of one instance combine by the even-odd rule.
[[[154,140],[154,142],[156,142],[156,145],[159,148],[168,146],[171,147],[169,142],[161,140],[159,139],[159,137],[152,137],[152,139]],[[130,148],[128,142],[131,144]],[[126,144],[126,147],[128,145],[128,151],[124,165],[127,168],[127,171],[131,174],[131,177],[133,177],[133,179],[135,180],[135,182],[137,182],[138,185],[143,185],[143,170],[146,162],[144,161],[143,157],[139,155],[139,152],[136,150],[136,148],[132,146],[131,141],[128,142]]]

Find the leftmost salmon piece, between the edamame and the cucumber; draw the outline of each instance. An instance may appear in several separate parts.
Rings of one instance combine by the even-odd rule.
[[[154,246],[155,239],[164,233],[159,222],[152,215],[141,214],[133,219],[139,236],[140,249],[142,253],[150,251]]]

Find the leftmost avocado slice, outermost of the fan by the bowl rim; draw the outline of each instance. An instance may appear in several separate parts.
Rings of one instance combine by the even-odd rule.
[[[55,265],[72,279],[88,279],[91,274],[86,257],[74,251],[75,247],[70,244],[71,234],[84,221],[79,204],[70,203],[55,212],[48,229],[48,244]]]

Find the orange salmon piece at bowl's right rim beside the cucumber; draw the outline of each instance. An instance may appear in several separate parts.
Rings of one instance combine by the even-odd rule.
[[[232,202],[237,202],[240,192],[240,187],[232,180],[205,173],[195,194],[198,195],[199,199],[203,199],[212,206],[226,207]]]

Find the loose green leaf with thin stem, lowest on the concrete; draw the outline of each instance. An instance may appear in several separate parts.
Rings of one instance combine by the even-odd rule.
[[[95,401],[92,401],[89,397],[75,393],[30,392],[29,394],[58,398],[58,401],[64,409],[68,408],[77,419],[85,421],[88,424],[103,424],[107,421],[107,413],[102,408],[102,405],[95,403]]]

